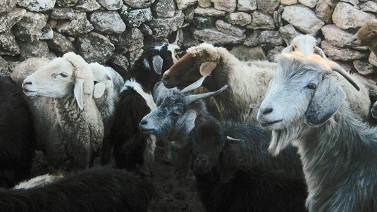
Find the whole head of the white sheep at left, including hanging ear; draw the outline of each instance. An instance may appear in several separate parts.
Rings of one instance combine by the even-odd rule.
[[[72,93],[80,109],[84,108],[84,94],[92,95],[93,75],[85,60],[73,53],[55,58],[51,63],[39,68],[23,81],[23,92],[27,96],[47,96],[65,98]]]

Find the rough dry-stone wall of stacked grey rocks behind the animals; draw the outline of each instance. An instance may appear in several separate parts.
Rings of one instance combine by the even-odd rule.
[[[167,41],[271,59],[304,33],[347,70],[371,76],[376,57],[347,41],[376,15],[374,0],[0,0],[0,71],[75,51],[121,73],[144,47]]]

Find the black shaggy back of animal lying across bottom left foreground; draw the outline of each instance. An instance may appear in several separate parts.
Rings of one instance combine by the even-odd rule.
[[[91,168],[30,189],[0,189],[0,211],[147,211],[154,185],[113,168]]]

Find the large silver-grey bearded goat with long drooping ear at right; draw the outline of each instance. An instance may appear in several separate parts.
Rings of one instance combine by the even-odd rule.
[[[350,109],[340,76],[326,60],[294,53],[277,60],[257,116],[272,130],[269,151],[297,146],[309,211],[377,211],[377,128]]]

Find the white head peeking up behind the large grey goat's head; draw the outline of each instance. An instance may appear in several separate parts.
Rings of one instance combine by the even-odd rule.
[[[281,52],[290,53],[292,51],[299,51],[304,55],[319,54],[323,58],[327,58],[323,50],[317,46],[317,40],[313,35],[297,35],[292,39],[290,45]]]

